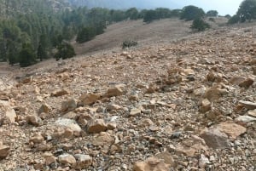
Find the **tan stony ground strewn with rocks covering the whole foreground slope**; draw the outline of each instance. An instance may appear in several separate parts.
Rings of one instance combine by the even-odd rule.
[[[255,40],[218,29],[24,69],[0,94],[0,170],[255,170]]]

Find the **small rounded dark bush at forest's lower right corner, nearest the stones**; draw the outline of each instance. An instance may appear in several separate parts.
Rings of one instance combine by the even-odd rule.
[[[55,60],[66,60],[76,55],[73,46],[69,43],[61,43],[57,49],[58,52],[55,54]]]

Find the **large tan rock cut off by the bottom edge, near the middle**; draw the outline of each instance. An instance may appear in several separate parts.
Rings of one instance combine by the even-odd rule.
[[[134,171],[169,171],[169,166],[159,159],[150,157],[145,162],[135,162]]]

